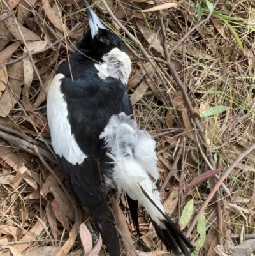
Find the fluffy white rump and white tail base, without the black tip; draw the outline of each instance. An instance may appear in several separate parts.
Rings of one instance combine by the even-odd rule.
[[[105,130],[100,135],[110,149],[109,156],[113,160],[113,176],[119,191],[128,193],[133,200],[143,204],[150,217],[162,225],[163,215],[143,194],[140,186],[164,213],[159,192],[148,173],[157,179],[157,157],[154,151],[156,143],[150,135],[139,130],[131,116],[121,113],[110,118]]]

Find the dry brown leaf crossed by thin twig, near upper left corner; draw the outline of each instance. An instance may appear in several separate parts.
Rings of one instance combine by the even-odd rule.
[[[6,25],[6,27],[8,27],[8,30],[14,36],[15,39],[22,41],[20,33],[18,32],[17,26],[12,17],[4,20],[4,24]],[[30,29],[27,29],[26,27],[22,26],[21,24],[18,24],[18,25],[19,25],[20,30],[25,38],[25,41],[41,40],[40,37],[36,36],[36,34],[33,31],[31,31]]]

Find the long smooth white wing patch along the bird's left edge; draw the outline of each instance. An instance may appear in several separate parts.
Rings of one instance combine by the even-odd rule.
[[[64,75],[55,75],[50,84],[47,96],[47,117],[52,137],[52,147],[60,157],[75,165],[84,161],[87,156],[80,150],[75,137],[71,134],[68,121],[67,104],[61,93],[61,79]]]

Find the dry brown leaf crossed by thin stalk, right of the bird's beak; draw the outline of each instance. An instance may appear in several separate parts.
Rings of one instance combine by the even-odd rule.
[[[140,30],[141,34],[143,35],[147,43],[149,43],[150,45],[153,40],[153,49],[159,52],[164,57],[164,50],[162,46],[161,37],[157,36],[156,40],[154,40],[156,33],[154,33],[154,31],[150,31],[150,29],[147,26],[143,25],[142,21],[140,20],[136,20],[136,25],[138,26],[138,29]]]

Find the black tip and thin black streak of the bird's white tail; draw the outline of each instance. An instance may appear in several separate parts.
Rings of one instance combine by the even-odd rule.
[[[156,209],[163,215],[164,219],[160,220],[163,224],[162,226],[157,225],[155,220],[152,220],[152,224],[157,232],[157,236],[159,239],[163,241],[169,252],[175,253],[175,255],[180,255],[180,250],[184,253],[185,256],[190,256],[191,254],[187,250],[189,248],[192,252],[194,251],[194,246],[191,245],[189,240],[182,234],[182,232],[177,228],[175,223],[171,220],[171,218],[161,211],[161,209],[155,204],[155,202],[149,197],[147,192],[140,186],[143,194],[150,202],[156,207]],[[180,249],[179,249],[180,248]]]

